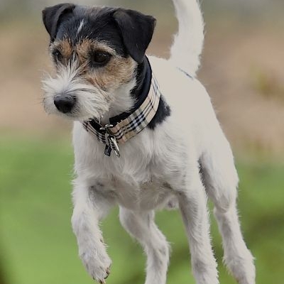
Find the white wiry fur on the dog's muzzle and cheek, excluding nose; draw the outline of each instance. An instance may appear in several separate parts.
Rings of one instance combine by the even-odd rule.
[[[131,89],[136,85],[135,77],[117,89],[107,91],[87,82],[81,75],[81,69],[76,60],[71,60],[66,66],[58,66],[55,77],[46,75],[43,80],[43,107],[48,114],[78,121],[96,118],[104,122],[133,107]],[[70,94],[77,99],[75,109],[68,114],[62,114],[54,104],[54,98],[62,94]]]

